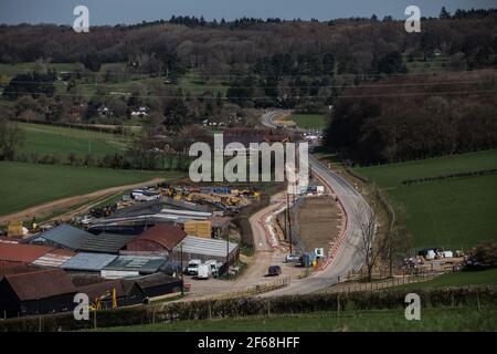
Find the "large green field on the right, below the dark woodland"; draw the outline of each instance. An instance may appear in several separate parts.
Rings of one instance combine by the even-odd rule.
[[[468,249],[497,240],[497,175],[401,186],[403,179],[497,167],[497,150],[358,168],[403,207],[412,247]]]

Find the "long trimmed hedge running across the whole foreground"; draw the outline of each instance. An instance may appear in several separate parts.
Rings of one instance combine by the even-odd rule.
[[[163,303],[97,313],[98,327],[150,324],[182,320],[203,320],[248,315],[290,314],[315,311],[404,309],[405,294],[421,296],[422,308],[497,305],[497,287],[423,289],[410,291],[308,294],[279,298],[240,298]],[[92,329],[89,321],[75,321],[72,313],[0,321],[0,332],[71,331]]]

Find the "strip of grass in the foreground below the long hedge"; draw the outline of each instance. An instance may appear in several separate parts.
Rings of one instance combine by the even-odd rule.
[[[496,331],[497,309],[422,309],[421,321],[406,321],[404,310],[302,313],[271,317],[180,321],[101,329],[114,332],[374,332]]]

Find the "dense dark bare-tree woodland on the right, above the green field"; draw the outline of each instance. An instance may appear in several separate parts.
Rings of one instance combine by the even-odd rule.
[[[390,77],[343,92],[325,145],[362,164],[497,147],[497,72]]]

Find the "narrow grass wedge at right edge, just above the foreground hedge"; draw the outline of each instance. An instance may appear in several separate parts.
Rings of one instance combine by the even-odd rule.
[[[473,272],[453,272],[440,275],[435,279],[401,285],[395,289],[414,290],[426,288],[450,288],[472,285],[497,285],[497,269],[488,269]]]

